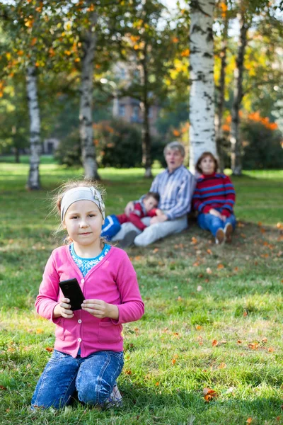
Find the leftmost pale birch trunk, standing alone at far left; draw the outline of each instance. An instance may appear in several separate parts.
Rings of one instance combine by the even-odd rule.
[[[26,187],[30,190],[40,188],[40,108],[37,98],[36,68],[28,67],[26,77],[28,110],[30,113],[30,172]]]

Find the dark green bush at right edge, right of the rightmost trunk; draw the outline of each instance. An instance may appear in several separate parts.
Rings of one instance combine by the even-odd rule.
[[[241,132],[243,136],[243,169],[283,168],[281,132],[250,120],[241,124]]]

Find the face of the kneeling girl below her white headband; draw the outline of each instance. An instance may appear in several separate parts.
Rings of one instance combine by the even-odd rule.
[[[96,249],[100,246],[103,223],[103,217],[95,203],[91,200],[78,200],[69,206],[63,225],[74,245]]]

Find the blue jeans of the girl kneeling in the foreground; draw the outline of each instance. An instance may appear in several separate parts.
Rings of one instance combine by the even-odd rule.
[[[122,352],[98,351],[85,358],[74,358],[54,350],[35,387],[32,408],[59,409],[71,402],[75,391],[83,403],[104,404],[123,364]]]

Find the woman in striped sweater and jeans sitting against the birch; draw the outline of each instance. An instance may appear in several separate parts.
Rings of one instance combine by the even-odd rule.
[[[228,176],[216,173],[217,160],[210,152],[204,152],[197,161],[196,169],[201,176],[197,179],[192,205],[198,211],[198,225],[209,230],[216,244],[231,242],[236,226],[233,214],[235,191]]]

